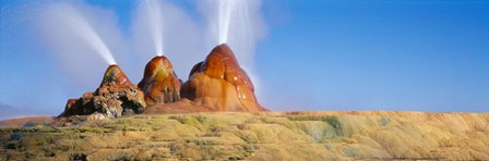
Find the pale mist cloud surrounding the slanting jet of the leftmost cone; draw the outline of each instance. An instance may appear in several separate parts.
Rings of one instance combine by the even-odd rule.
[[[35,12],[33,26],[39,47],[55,54],[73,85],[96,88],[99,73],[118,58],[130,57],[118,17],[110,10],[79,1],[55,1]]]

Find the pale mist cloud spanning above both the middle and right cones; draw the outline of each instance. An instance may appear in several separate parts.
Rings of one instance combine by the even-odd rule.
[[[148,24],[163,26],[164,55],[174,62],[176,73],[183,81],[194,64],[203,61],[208,52],[219,41],[219,7],[223,0],[198,0],[195,4],[198,15],[191,14],[171,1],[139,1],[131,23],[133,45],[138,54],[148,61],[158,54],[157,44],[152,39],[158,35]],[[266,36],[267,26],[261,13],[261,0],[237,0],[230,5],[229,27],[226,32],[226,44],[235,51],[235,54],[247,74],[258,84],[254,74],[254,53],[257,44]],[[147,5],[152,5],[151,8]],[[148,11],[157,11],[162,16],[148,15]],[[156,24],[155,24],[156,25]],[[222,28],[220,28],[222,29]]]

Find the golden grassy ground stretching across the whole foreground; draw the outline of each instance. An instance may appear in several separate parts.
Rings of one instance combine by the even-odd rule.
[[[488,113],[134,115],[0,128],[0,160],[489,160]]]

